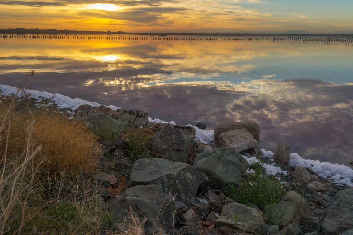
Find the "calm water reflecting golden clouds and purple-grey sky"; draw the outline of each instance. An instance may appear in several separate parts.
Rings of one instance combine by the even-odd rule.
[[[0,51],[0,84],[35,70],[28,86],[39,91],[208,129],[254,121],[261,148],[282,142],[306,159],[353,160],[349,45],[1,38]]]

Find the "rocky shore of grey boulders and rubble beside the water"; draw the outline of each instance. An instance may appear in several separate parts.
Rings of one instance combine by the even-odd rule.
[[[144,221],[148,235],[353,232],[353,188],[334,184],[311,169],[288,166],[289,148],[281,143],[273,155],[260,150],[257,123],[220,123],[214,145],[207,145],[195,141],[192,126],[151,123],[143,111],[81,105],[75,113],[93,130],[110,126],[120,134],[102,142],[98,172],[90,174],[89,181],[100,188],[102,207],[117,219],[126,218],[121,232],[131,215]],[[140,126],[155,155],[126,157],[128,130]],[[255,167],[263,168],[263,177],[278,178],[287,192],[281,202],[263,210],[239,204],[227,194]]]

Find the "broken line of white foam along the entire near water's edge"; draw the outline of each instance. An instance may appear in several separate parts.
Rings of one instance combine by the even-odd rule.
[[[12,87],[8,85],[0,85],[0,94],[1,95],[11,95],[11,94],[16,94],[18,88],[17,87]],[[41,92],[41,91],[35,91],[35,90],[26,90],[26,94],[29,96],[29,98],[35,98],[40,100],[42,99],[51,99],[51,101],[59,108],[59,109],[69,109],[71,108],[72,110],[76,110],[80,105],[82,104],[88,104],[91,106],[100,106],[100,104],[96,102],[89,102],[87,100],[83,100],[80,98],[75,98],[72,99],[66,95],[58,94],[58,93],[49,93],[49,92]],[[19,92],[19,96],[23,95],[23,92]],[[109,105],[107,106],[112,110],[118,110],[121,109],[120,107],[116,107],[114,105]],[[74,112],[70,112],[72,115]],[[175,124],[175,122],[170,121],[166,122],[160,119],[152,119],[148,117],[149,122],[156,122],[156,123],[170,123],[170,124]],[[192,126],[192,125],[189,125]],[[199,140],[202,143],[205,144],[210,144],[213,143],[213,134],[214,130],[201,130],[197,128],[196,126],[193,126],[196,130],[196,138],[195,140]],[[264,157],[268,157],[270,161],[274,161],[273,159],[273,152],[271,151],[266,151],[264,149],[261,149],[261,153],[263,154]],[[257,159],[254,156],[243,156],[248,162],[249,165],[254,164]],[[305,168],[310,168],[315,172],[317,175],[327,178],[328,176],[331,176],[331,178],[328,178],[332,180],[336,184],[345,184],[348,186],[353,186],[352,180],[353,180],[353,169],[350,167],[347,167],[345,165],[339,165],[337,163],[329,163],[329,162],[320,162],[319,160],[306,160],[303,159],[302,157],[299,156],[297,153],[291,153],[290,159],[289,159],[289,166],[301,166]],[[283,175],[286,175],[286,172],[283,172],[281,168],[275,167],[274,163],[268,165],[264,165],[266,169],[266,174],[270,175],[273,174],[275,175],[276,173],[280,173]]]

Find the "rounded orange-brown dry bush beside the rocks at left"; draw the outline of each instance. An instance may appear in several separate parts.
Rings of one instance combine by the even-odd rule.
[[[53,173],[89,172],[96,166],[97,142],[86,125],[46,110],[38,110],[35,119],[34,137],[43,144],[40,155],[48,159],[46,166]]]

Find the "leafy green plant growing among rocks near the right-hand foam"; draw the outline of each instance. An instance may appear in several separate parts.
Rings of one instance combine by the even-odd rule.
[[[263,210],[267,205],[279,203],[286,190],[275,177],[264,175],[260,166],[243,178],[238,186],[231,184],[227,193],[235,202],[244,205],[252,203]]]

